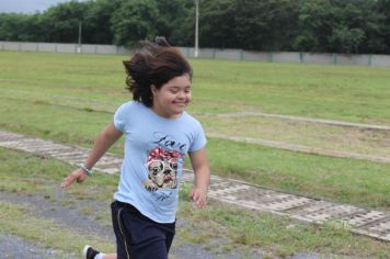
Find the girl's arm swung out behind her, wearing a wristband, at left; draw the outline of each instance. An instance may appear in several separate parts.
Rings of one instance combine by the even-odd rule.
[[[123,133],[116,130],[113,123],[107,125],[95,138],[84,166],[91,169],[122,135]],[[82,182],[87,177],[87,173],[79,168],[64,179],[61,187],[67,188],[72,184],[74,180],[77,182]]]

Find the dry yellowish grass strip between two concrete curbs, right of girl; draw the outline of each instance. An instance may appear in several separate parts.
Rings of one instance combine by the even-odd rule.
[[[390,159],[390,131],[370,131],[262,116],[196,115],[207,134],[250,137]]]

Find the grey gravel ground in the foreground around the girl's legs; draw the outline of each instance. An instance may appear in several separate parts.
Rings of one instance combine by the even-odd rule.
[[[64,192],[58,192],[54,198],[45,199],[38,195],[20,195],[16,193],[0,192],[0,200],[11,202],[14,204],[22,204],[32,207],[34,216],[39,218],[51,219],[64,227],[81,230],[91,235],[100,235],[115,240],[111,224],[105,226],[96,222],[92,215],[81,213],[85,206],[92,207],[95,211],[108,210],[108,204],[97,201],[78,201],[69,206],[61,205],[61,200],[65,199]],[[177,219],[177,228],[186,224],[184,219]],[[180,245],[176,245],[180,243]],[[0,235],[0,258],[81,258],[81,249],[84,244],[80,244],[80,251],[74,251],[72,255],[64,255],[61,251],[53,249],[44,249],[39,244],[32,244],[25,241],[14,235]],[[260,250],[252,251],[230,251],[230,252],[213,252],[206,250],[202,245],[183,244],[175,237],[171,248],[171,256],[175,259],[191,258],[191,259],[208,259],[208,258],[263,258],[263,252]]]

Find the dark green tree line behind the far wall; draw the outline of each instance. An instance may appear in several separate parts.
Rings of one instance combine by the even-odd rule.
[[[62,2],[0,13],[0,41],[133,47],[164,35],[193,46],[194,0]],[[261,52],[390,54],[390,0],[200,0],[199,46]]]

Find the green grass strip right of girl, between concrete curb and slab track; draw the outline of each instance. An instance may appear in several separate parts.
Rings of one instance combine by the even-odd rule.
[[[211,168],[218,174],[364,207],[388,210],[390,206],[388,165],[295,154],[221,139],[209,143]],[[233,157],[230,150],[234,150]]]

